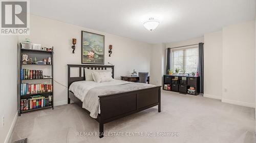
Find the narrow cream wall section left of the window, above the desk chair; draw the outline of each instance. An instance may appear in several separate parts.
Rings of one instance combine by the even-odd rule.
[[[150,83],[162,85],[162,78],[165,74],[166,45],[153,44],[151,51]]]

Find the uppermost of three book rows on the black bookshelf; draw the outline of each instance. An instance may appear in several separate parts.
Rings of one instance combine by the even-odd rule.
[[[20,70],[20,79],[40,79],[43,78],[42,70]]]

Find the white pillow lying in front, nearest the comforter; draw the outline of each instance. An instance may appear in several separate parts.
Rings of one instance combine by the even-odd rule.
[[[114,80],[112,78],[112,72],[109,71],[93,71],[92,76],[95,82],[106,82]]]

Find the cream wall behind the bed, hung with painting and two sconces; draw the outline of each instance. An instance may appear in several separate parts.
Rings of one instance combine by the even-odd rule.
[[[88,28],[59,22],[35,15],[30,17],[30,36],[19,36],[19,41],[29,38],[31,42],[42,46],[54,46],[54,79],[61,84],[68,83],[67,64],[81,64],[81,31],[105,36],[105,64],[115,65],[115,78],[137,72],[150,71],[151,44],[111,35]],[[72,53],[72,38],[77,39],[75,53]],[[111,57],[108,47],[113,45]],[[67,103],[67,88],[54,82],[55,105]]]

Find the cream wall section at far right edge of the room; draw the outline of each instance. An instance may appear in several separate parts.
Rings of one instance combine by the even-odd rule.
[[[255,107],[255,21],[224,27],[222,37],[222,101]]]

